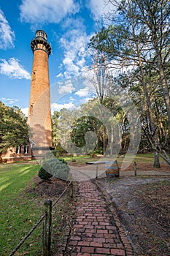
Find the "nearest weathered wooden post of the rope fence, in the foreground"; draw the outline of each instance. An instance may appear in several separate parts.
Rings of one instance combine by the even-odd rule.
[[[45,220],[42,233],[42,255],[50,256],[51,247],[51,222],[52,222],[52,200],[47,199],[45,205]]]

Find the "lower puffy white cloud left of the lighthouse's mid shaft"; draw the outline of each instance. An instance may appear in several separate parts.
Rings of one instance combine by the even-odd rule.
[[[0,74],[10,78],[31,79],[31,75],[19,63],[18,59],[10,58],[9,61],[0,59]]]

